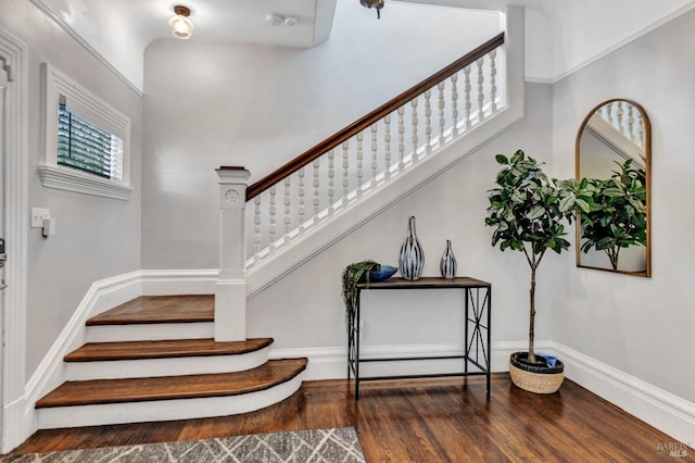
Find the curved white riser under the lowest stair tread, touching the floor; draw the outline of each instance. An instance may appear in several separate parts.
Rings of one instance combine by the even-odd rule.
[[[280,402],[300,388],[302,374],[269,389],[239,396],[37,409],[39,429],[162,422],[253,412]]]

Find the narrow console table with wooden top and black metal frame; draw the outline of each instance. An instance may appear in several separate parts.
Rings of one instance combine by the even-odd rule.
[[[348,379],[355,375],[355,400],[359,400],[359,381],[376,379],[420,378],[433,376],[486,376],[486,393],[490,396],[490,310],[492,298],[492,285],[475,278],[456,277],[452,279],[439,277],[422,277],[414,281],[400,277],[389,278],[383,281],[357,284],[357,306],[355,314],[349,321],[348,329]],[[407,358],[369,358],[359,356],[359,318],[362,316],[362,291],[376,291],[383,289],[460,289],[464,298],[464,351],[458,355],[441,356],[407,356]],[[427,315],[427,312],[422,312]],[[453,373],[419,374],[402,376],[359,376],[359,364],[365,362],[394,362],[414,360],[441,360],[464,359],[464,371]]]

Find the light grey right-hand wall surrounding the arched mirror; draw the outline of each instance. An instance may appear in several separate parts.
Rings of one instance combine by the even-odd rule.
[[[695,401],[695,12],[580,72],[553,90],[554,173],[573,175],[577,130],[609,98],[642,104],[652,122],[652,278],[586,268],[566,274],[554,339],[680,398]],[[565,259],[572,265],[572,256]]]

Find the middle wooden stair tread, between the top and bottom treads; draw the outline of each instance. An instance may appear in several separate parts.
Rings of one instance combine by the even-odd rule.
[[[66,362],[169,359],[180,356],[235,355],[254,352],[273,343],[273,338],[215,342],[214,339],[90,342],[65,355]]]

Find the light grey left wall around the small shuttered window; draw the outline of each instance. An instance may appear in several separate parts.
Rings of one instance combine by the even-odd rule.
[[[0,27],[28,45],[29,207],[48,208],[56,234],[29,229],[27,377],[98,279],[140,268],[140,158],[142,99],[28,1],[0,0]],[[41,73],[50,62],[131,122],[129,201],[45,188],[41,159]]]

